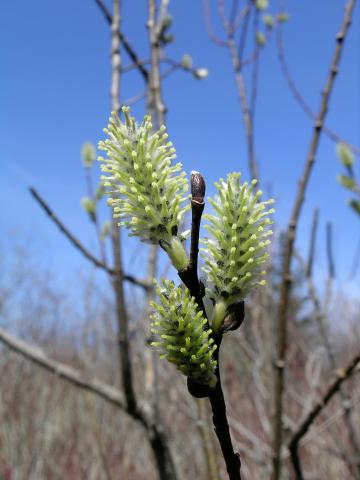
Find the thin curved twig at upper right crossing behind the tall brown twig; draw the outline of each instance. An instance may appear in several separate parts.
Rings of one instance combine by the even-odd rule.
[[[277,52],[278,52],[278,60],[280,62],[280,68],[282,71],[282,74],[285,78],[286,83],[288,84],[288,87],[293,94],[294,99],[298,103],[298,105],[301,107],[301,109],[306,113],[306,115],[313,121],[316,120],[316,114],[313,112],[309,104],[306,102],[305,98],[301,94],[298,86],[296,85],[296,82],[294,78],[291,75],[287,59],[286,59],[286,54],[285,54],[285,46],[284,46],[284,41],[282,37],[282,28],[279,26],[277,29],[277,35],[276,35],[276,45],[277,45]],[[360,155],[360,148],[351,145],[348,143],[346,140],[344,140],[342,137],[340,137],[336,132],[328,128],[326,125],[323,126],[323,131],[326,133],[326,135],[334,142],[336,143],[345,143],[356,155]]]

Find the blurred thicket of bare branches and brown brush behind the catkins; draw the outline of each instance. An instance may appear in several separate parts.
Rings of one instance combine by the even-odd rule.
[[[189,55],[167,56],[166,47],[173,41],[168,1],[147,2],[150,58],[142,58],[123,33],[126,18],[121,16],[119,0],[111,5],[96,3],[111,38],[109,110],[120,113],[121,105],[144,100],[154,127],[160,127],[166,123],[165,79],[183,70],[195,80],[204,80],[206,69],[194,66]],[[296,244],[322,135],[338,145],[344,167],[339,181],[351,191],[351,207],[359,221],[359,148],[326,124],[355,3],[346,2],[339,30],[334,32],[319,108],[312,111],[287,65],[282,29],[288,13],[275,11],[267,1],[204,1],[209,39],[213,48],[227,50],[233,67],[250,176],[261,184],[254,135],[258,68],[272,37],[294,100],[313,125],[297,191],[289,199],[293,207],[287,229],[277,231],[271,247],[268,285],[247,299],[243,325],[223,340],[222,383],[242,478],[360,478],[356,375],[360,303],[334,287],[330,222],[323,246],[327,274],[315,281],[317,209],[308,254],[301,254]],[[215,16],[223,26],[221,37],[214,32]],[[138,71],[144,90],[125,99],[120,80],[131,70]],[[124,271],[129,252],[122,230],[115,220],[100,216],[104,191],[94,181],[95,157],[94,147],[85,145],[87,192],[82,204],[95,227],[98,252],[82,243],[81,232],[69,231],[51,199],[44,199],[35,185],[29,186],[42,210],[39,215],[46,214],[59,234],[89,261],[79,305],[72,304],[67,292],[51,287],[47,272],[31,262],[31,251],[14,252],[2,268],[6,273],[0,283],[0,478],[226,478],[207,399],[191,397],[184,379],[172,366],[159,362],[148,347],[148,305],[155,298],[152,280],[164,267],[161,253],[150,246],[143,271],[136,275]],[[98,282],[98,269],[105,272],[106,284]],[[332,329],[337,317],[348,325],[341,334]]]

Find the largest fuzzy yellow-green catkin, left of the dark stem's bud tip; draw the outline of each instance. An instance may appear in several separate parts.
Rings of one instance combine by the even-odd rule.
[[[113,112],[104,132],[108,138],[99,143],[107,158],[99,158],[102,177],[109,195],[108,203],[120,225],[143,241],[160,243],[168,251],[178,270],[187,266],[178,229],[189,199],[188,182],[181,163],[173,164],[175,148],[168,141],[165,126],[152,131],[151,117],[138,126],[123,107],[125,122]],[[176,252],[173,252],[175,245]]]

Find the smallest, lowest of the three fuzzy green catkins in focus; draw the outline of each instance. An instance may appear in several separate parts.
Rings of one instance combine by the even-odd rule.
[[[217,378],[216,350],[207,320],[197,309],[187,289],[179,288],[169,280],[157,286],[159,302],[152,302],[151,332],[156,335],[152,346],[187,377],[214,387]]]

